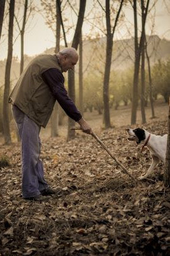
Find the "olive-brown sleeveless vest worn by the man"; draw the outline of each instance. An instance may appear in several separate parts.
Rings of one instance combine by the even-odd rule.
[[[13,88],[9,102],[16,105],[36,124],[46,127],[52,115],[55,98],[41,74],[49,68],[58,68],[57,56],[40,55],[29,63]]]

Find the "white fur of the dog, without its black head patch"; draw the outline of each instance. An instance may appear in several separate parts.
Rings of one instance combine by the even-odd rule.
[[[152,156],[152,164],[145,175],[139,177],[139,180],[147,178],[154,170],[154,168],[159,163],[159,159],[162,160],[163,163],[166,162],[166,146],[167,146],[167,134],[164,136],[157,136],[155,134],[151,134],[150,132],[145,131],[145,140],[141,141],[141,144],[145,145],[146,140],[150,134],[150,140],[148,141],[146,147],[150,150],[150,154]],[[130,136],[136,136],[132,129],[127,129],[127,133]]]

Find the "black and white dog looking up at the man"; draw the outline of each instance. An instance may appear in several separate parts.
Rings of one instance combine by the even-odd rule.
[[[137,144],[143,144],[143,148],[146,146],[150,150],[152,156],[152,164],[145,175],[139,177],[139,180],[146,179],[149,175],[153,173],[155,166],[159,163],[159,159],[163,163],[166,162],[166,146],[167,146],[167,134],[164,136],[157,136],[152,134],[145,129],[126,129],[127,134],[130,136],[128,140],[134,140]]]

